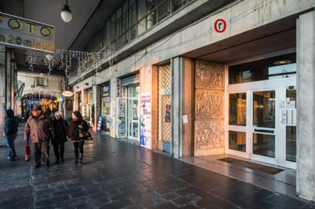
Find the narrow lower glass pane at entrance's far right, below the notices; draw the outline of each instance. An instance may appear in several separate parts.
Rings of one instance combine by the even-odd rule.
[[[286,160],[296,162],[296,126],[286,126]]]

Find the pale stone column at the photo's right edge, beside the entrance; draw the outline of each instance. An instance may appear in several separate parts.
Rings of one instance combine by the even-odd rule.
[[[296,192],[315,200],[315,12],[297,19]]]

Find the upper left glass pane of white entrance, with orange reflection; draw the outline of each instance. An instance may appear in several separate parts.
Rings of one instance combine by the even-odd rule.
[[[229,94],[228,125],[246,126],[246,93]]]

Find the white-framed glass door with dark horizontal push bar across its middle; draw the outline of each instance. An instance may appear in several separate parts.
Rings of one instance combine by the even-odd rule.
[[[251,158],[278,164],[278,88],[252,91]]]

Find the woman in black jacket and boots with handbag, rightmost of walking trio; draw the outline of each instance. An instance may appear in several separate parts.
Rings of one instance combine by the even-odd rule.
[[[72,120],[67,127],[68,137],[73,142],[74,146],[74,162],[78,163],[78,149],[80,150],[80,164],[82,165],[83,160],[83,145],[84,139],[79,137],[79,129],[88,131],[90,129],[86,121],[83,120],[82,115],[79,111],[72,112]]]

